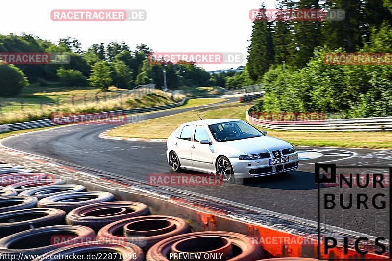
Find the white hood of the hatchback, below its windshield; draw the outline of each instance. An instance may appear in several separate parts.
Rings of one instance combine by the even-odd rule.
[[[292,145],[289,142],[283,141],[278,138],[270,136],[261,136],[255,138],[248,138],[236,141],[222,142],[226,143],[238,150],[245,152],[245,154],[256,154],[263,152],[272,152],[274,150],[282,150],[291,148]]]

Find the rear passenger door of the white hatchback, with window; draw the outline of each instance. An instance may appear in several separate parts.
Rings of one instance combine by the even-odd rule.
[[[191,138],[194,129],[195,125],[184,126],[180,138],[176,139],[174,144],[182,167],[192,167],[191,146],[193,145],[193,142],[191,142]]]

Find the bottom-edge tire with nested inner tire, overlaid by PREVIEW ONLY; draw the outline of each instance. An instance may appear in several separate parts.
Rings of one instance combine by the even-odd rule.
[[[179,242],[180,240],[203,240],[203,237],[223,237],[231,241],[231,244],[236,246],[238,251],[233,251],[233,256],[225,259],[227,261],[240,261],[240,260],[258,260],[264,258],[263,249],[252,243],[252,238],[243,234],[234,232],[224,232],[224,231],[203,231],[194,232],[184,235],[174,236],[166,238],[155,245],[153,245],[147,252],[146,261],[170,261],[169,254],[172,253],[172,246]],[[212,242],[214,243],[214,242]],[[186,247],[192,248],[192,243],[189,243]],[[198,245],[198,244],[197,244]],[[209,251],[211,251],[212,246],[208,245]],[[218,246],[217,246],[217,249]],[[193,252],[193,250],[184,252]],[[197,252],[203,252],[199,250]]]

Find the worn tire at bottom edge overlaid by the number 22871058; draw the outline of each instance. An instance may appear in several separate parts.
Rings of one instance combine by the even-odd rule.
[[[34,259],[32,261],[59,261],[55,257],[61,255],[84,255],[90,257],[89,260],[98,260],[97,257],[104,257],[112,253],[113,259],[105,260],[121,260],[121,261],[144,261],[143,250],[137,245],[131,243],[102,243],[99,241],[90,242],[88,244],[74,244],[65,246],[45,254],[49,258]],[[93,258],[95,255],[96,258]],[[51,258],[50,258],[51,257]],[[121,258],[120,258],[121,257]],[[87,260],[87,259],[83,259]]]

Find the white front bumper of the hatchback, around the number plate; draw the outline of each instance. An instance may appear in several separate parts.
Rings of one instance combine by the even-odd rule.
[[[249,161],[229,158],[229,160],[233,166],[234,176],[236,178],[255,178],[288,172],[298,168],[299,159],[297,152],[283,156],[288,156],[289,161],[276,165],[269,164],[271,158]],[[250,172],[251,170],[252,172]]]

